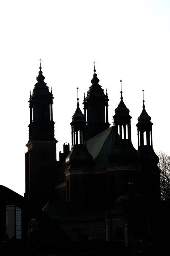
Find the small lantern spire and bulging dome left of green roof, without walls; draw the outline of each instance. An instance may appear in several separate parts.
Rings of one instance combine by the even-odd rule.
[[[72,116],[71,122],[71,151],[65,162],[68,169],[87,168],[93,161],[93,157],[86,147],[86,119],[79,108],[79,98],[77,98],[77,109]]]

